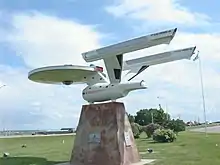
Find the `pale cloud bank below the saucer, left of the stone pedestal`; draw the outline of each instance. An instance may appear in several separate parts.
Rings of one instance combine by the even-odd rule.
[[[2,83],[7,84],[0,90],[0,118],[6,128],[22,128],[24,124],[30,129],[59,128],[77,123],[85,103],[82,86],[37,84],[27,79],[27,69],[1,66],[0,71]]]

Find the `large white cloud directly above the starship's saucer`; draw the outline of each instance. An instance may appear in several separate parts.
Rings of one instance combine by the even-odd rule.
[[[16,14],[8,42],[31,68],[85,64],[81,53],[100,46],[95,26],[40,13]]]

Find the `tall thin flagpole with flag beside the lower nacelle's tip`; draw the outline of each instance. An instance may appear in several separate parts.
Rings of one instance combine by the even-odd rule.
[[[205,106],[206,104],[205,104],[205,96],[204,96],[202,66],[201,66],[201,60],[200,60],[200,57],[199,57],[199,51],[198,51],[196,57],[193,59],[193,61],[196,61],[197,59],[199,61],[199,76],[200,76],[201,92],[202,92],[203,115],[204,115],[204,120],[205,120],[205,135],[207,136],[206,106]]]

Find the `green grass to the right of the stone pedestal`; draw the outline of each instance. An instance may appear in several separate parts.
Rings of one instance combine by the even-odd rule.
[[[216,147],[216,144],[219,146]],[[143,154],[144,158],[157,159],[155,165],[217,165],[220,164],[220,134],[184,132],[174,143],[152,143],[137,140],[139,151],[153,148],[155,153]]]

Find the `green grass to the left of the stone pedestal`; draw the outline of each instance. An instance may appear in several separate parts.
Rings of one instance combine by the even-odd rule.
[[[62,163],[70,159],[73,141],[73,136],[0,139],[0,153],[9,152],[12,157],[11,159],[0,157],[0,165],[54,165]],[[21,148],[22,144],[26,144],[27,148]]]

